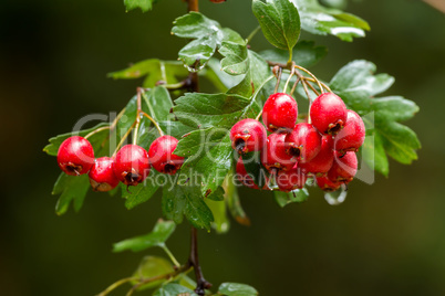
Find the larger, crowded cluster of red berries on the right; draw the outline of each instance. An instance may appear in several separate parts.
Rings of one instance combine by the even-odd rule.
[[[284,93],[271,95],[262,108],[265,126],[244,119],[232,126],[230,140],[239,157],[236,171],[247,187],[258,189],[246,170],[242,155],[260,151],[261,163],[275,178],[281,191],[304,187],[308,177],[325,191],[349,183],[358,170],[355,152],[363,145],[365,129],[362,118],[346,109],[333,93],[317,97],[310,107],[309,123],[297,123],[297,102]],[[270,177],[262,189],[270,189]]]

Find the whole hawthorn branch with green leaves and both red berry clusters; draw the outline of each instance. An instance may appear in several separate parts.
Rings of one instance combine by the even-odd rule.
[[[127,10],[142,11],[155,2],[124,1]],[[114,251],[159,246],[170,261],[145,257],[135,275],[123,281],[133,285],[127,295],[143,288],[155,288],[153,295],[204,295],[209,288],[204,277],[195,283],[187,276],[197,266],[193,261],[180,265],[165,242],[184,216],[196,229],[218,233],[228,231],[228,213],[248,224],[237,184],[270,190],[281,207],[307,200],[308,188],[318,184],[333,191],[325,198],[335,203],[344,200],[359,162],[387,177],[389,157],[405,165],[417,159],[420,141],[402,121],[418,107],[401,96],[381,96],[394,83],[392,76],[375,74],[368,61],[350,62],[329,82],[307,70],[327,49],[299,40],[301,30],[352,41],[370,30],[364,20],[317,0],[253,0],[252,13],[270,50],[249,46],[258,29],[246,39],[189,12],[172,28],[188,41],[177,59],[149,59],[108,74],[143,78],[113,120],[59,135],[44,147],[63,170],[52,192],[60,195],[59,215],[71,203],[79,211],[91,187],[121,192],[127,209],[163,191],[162,213],[168,221],[116,243]],[[199,93],[197,78],[211,83],[216,93]],[[306,110],[297,104],[303,101]],[[81,157],[85,151],[87,160]],[[281,177],[288,179],[280,182]],[[213,295],[257,292],[226,283]]]

